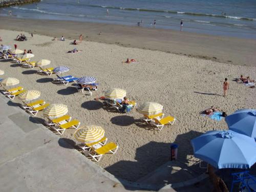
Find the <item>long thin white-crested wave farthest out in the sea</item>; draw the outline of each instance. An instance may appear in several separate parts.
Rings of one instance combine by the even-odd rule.
[[[216,15],[216,14],[207,14],[207,13],[193,13],[193,12],[181,12],[181,11],[172,11],[172,10],[158,10],[158,9],[140,9],[140,8],[124,8],[124,7],[114,7],[114,6],[99,6],[99,5],[87,5],[91,7],[101,7],[108,9],[122,9],[127,11],[145,11],[145,12],[163,12],[163,13],[173,13],[173,14],[185,14],[185,15],[195,15],[195,16],[210,16],[210,17],[222,17],[230,19],[242,19],[242,20],[256,20],[256,18],[247,18],[247,17],[236,17],[228,15]]]

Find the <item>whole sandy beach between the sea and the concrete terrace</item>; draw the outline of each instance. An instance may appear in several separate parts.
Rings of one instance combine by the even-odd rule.
[[[92,29],[83,31],[80,25],[73,28],[76,23],[70,22],[73,26],[64,26],[63,22],[44,20],[27,20],[30,23],[28,27],[23,19],[4,18],[0,20],[2,44],[17,44],[18,49],[31,49],[35,54],[31,60],[49,59],[49,67],[70,67],[70,71],[64,75],[90,75],[97,79],[98,91],[93,92],[92,96],[82,95],[77,93],[72,83],[68,86],[52,83],[56,77],[54,74],[42,76],[35,73],[37,68],[31,70],[10,61],[0,61],[0,69],[5,71],[1,78],[18,78],[19,86],[26,90],[39,90],[41,99],[49,103],[67,104],[68,114],[80,120],[81,125],[102,126],[105,136],[109,141],[118,143],[119,150],[115,155],[105,155],[98,164],[118,178],[137,181],[151,173],[169,160],[169,145],[173,142],[179,144],[178,160],[183,164],[182,168],[194,167],[193,170],[199,174],[201,170],[195,165],[190,139],[209,130],[227,129],[224,119],[218,122],[199,113],[212,105],[227,114],[238,109],[256,108],[255,89],[232,81],[241,74],[256,78],[255,40],[193,33],[185,33],[184,38],[178,37],[181,35],[179,32],[135,27],[127,31],[129,27],[125,27],[125,30],[123,26],[112,29],[103,24],[84,25],[84,29]],[[64,28],[68,32],[63,32]],[[33,32],[34,37],[25,32],[29,37],[27,41],[15,41],[17,34],[23,31]],[[102,31],[102,35],[97,35],[98,31]],[[66,38],[78,39],[80,33],[88,38],[77,46],[70,45],[72,40],[69,39],[52,41],[52,36],[60,37],[61,34]],[[177,38],[166,38],[165,35],[169,33]],[[200,42],[200,46],[191,39]],[[116,45],[117,42],[123,46]],[[67,53],[74,48],[82,51]],[[168,51],[191,56],[166,53]],[[213,57],[222,62],[213,61]],[[122,63],[126,58],[135,58],[138,62]],[[223,63],[228,60],[236,65]],[[224,98],[222,84],[226,77],[230,89]],[[103,96],[109,88],[126,90],[127,97],[136,100],[138,105],[146,101],[161,103],[164,114],[174,116],[177,121],[174,125],[165,126],[162,131],[153,131],[150,126],[141,123],[142,115],[136,110],[127,114],[108,112],[94,98]],[[15,98],[13,102],[20,100]],[[41,120],[42,112],[37,118]],[[74,132],[74,129],[69,129],[61,137],[74,140]]]

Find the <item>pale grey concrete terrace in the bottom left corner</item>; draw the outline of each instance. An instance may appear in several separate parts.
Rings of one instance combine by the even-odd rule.
[[[155,171],[156,177],[140,184],[116,179],[18,106],[0,95],[1,191],[152,191],[159,190],[154,185],[159,175],[172,174],[167,163]],[[207,191],[208,182],[198,185],[205,178],[169,184],[159,191]]]

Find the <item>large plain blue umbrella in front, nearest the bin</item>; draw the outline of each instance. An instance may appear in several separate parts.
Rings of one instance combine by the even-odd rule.
[[[253,138],[227,131],[209,131],[192,139],[194,156],[216,168],[250,168],[256,162]]]

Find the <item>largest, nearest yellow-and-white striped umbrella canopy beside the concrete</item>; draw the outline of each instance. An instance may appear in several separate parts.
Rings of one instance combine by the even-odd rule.
[[[99,141],[104,137],[104,135],[105,131],[101,126],[97,125],[83,126],[74,133],[76,140],[82,143]]]

